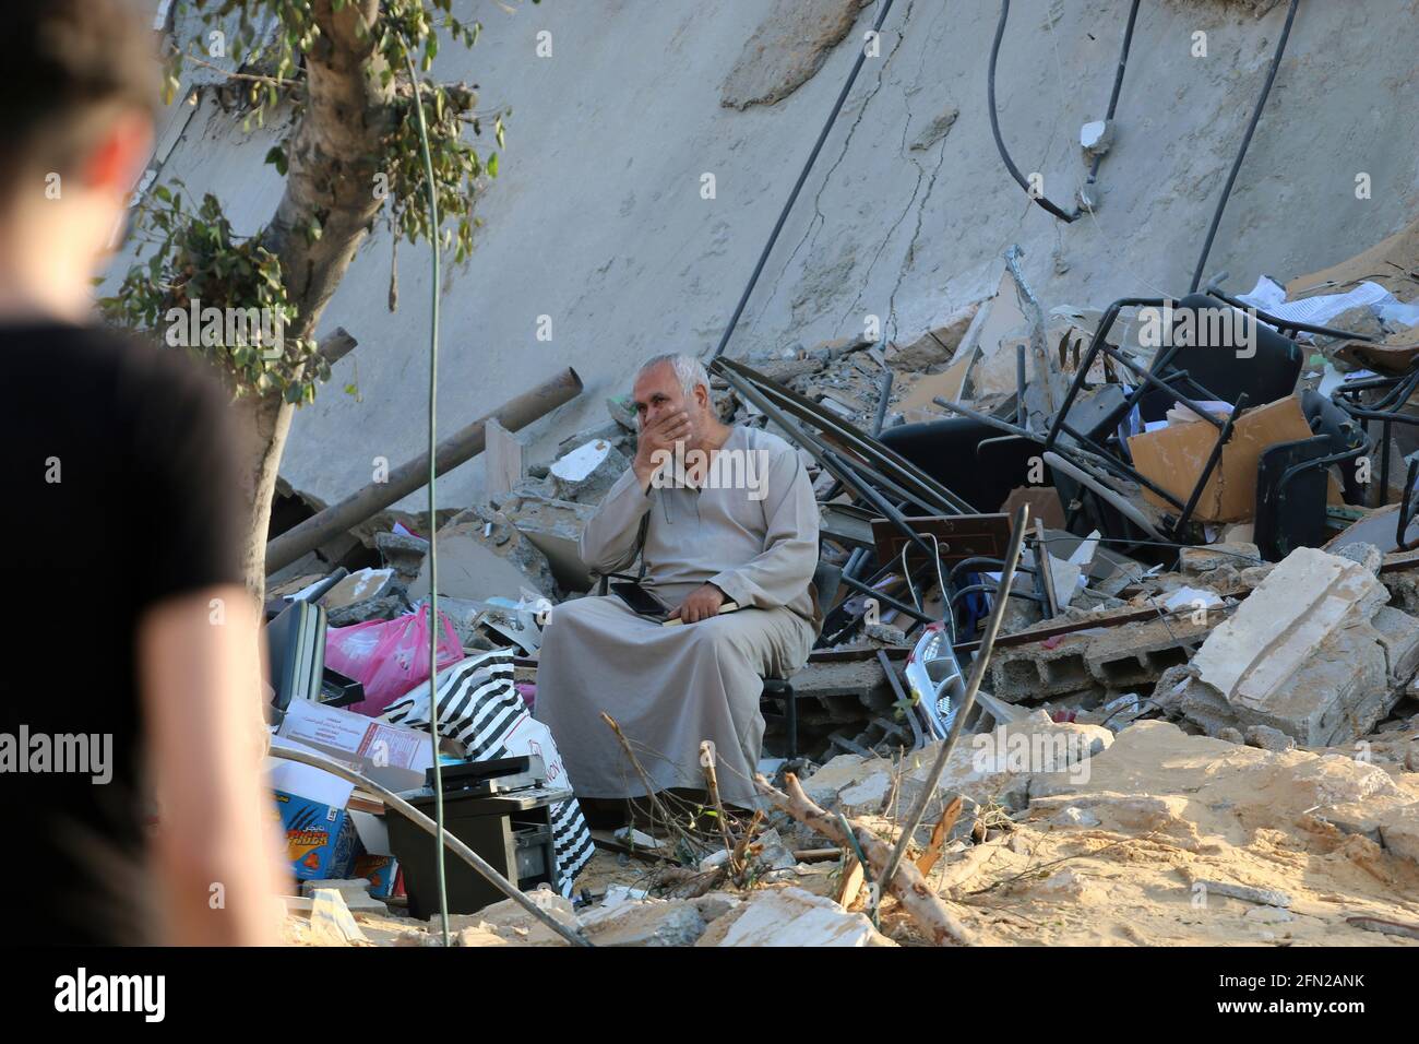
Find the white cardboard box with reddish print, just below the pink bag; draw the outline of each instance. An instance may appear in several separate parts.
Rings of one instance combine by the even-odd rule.
[[[291,700],[277,736],[348,761],[360,774],[394,791],[424,785],[424,770],[433,766],[429,733],[312,700]]]

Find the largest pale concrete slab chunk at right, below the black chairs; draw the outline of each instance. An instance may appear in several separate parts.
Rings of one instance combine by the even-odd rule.
[[[1313,747],[1364,736],[1419,663],[1419,621],[1388,598],[1358,562],[1293,551],[1202,643],[1183,717],[1210,736],[1270,726]]]

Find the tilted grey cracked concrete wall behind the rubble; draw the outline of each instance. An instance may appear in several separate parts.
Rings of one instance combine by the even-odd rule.
[[[840,6],[840,4],[839,4]],[[606,418],[639,359],[715,344],[847,75],[876,4],[822,68],[773,104],[722,104],[727,74],[772,7],[761,0],[524,4],[478,16],[477,47],[444,47],[436,74],[512,105],[485,227],[443,294],[438,415],[446,432],[573,365],[586,392],[528,430],[528,459]],[[1060,224],[1029,203],[996,155],[986,60],[998,6],[897,0],[749,301],[731,354],[812,347],[881,317],[888,338],[922,330],[993,290],[1000,254],[1025,247],[1046,308],[1186,291],[1218,193],[1260,91],[1284,4],[1145,0],[1100,170],[1095,216]],[[1233,291],[1349,257],[1415,216],[1412,104],[1416,0],[1301,0],[1209,273]],[[1084,176],[1077,134],[1101,118],[1128,0],[1016,0],[998,72],[1005,139],[1063,203]],[[551,31],[551,58],[536,34]],[[1193,33],[1208,57],[1193,57]],[[264,223],[281,179],[263,156],[280,128],[243,135],[213,105],[189,109],[163,178],[226,202],[238,232]],[[480,145],[484,148],[485,142]],[[715,199],[701,197],[714,173]],[[1355,197],[1355,176],[1372,180]],[[299,410],[282,474],[333,500],[423,443],[429,259],[399,253],[400,311],[386,297],[390,243],[360,250],[325,314],[360,347]],[[552,339],[536,339],[549,315]],[[322,331],[324,332],[324,331]],[[360,399],[343,388],[358,382]],[[473,503],[481,464],[440,483]],[[407,507],[417,507],[416,494]]]

